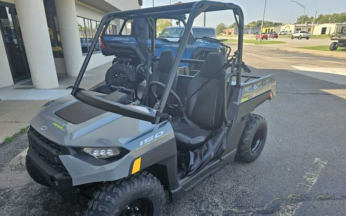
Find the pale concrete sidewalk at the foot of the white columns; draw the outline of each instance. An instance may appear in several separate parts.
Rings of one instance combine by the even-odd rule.
[[[111,62],[86,71],[80,87],[90,89],[104,81],[110,66]],[[56,89],[34,89],[31,80],[0,89],[0,143],[28,126],[43,104],[71,93],[66,88],[74,84],[76,77],[59,75],[58,79],[59,87]]]

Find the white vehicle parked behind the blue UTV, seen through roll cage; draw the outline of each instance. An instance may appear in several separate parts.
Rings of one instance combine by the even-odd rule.
[[[165,38],[171,42],[178,42],[183,32],[184,27],[167,27],[160,33],[158,38]],[[191,32],[195,38],[206,36],[216,39],[216,31],[212,27],[192,27]]]

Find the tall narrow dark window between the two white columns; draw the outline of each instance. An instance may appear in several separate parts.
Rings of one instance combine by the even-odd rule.
[[[50,37],[50,43],[52,46],[54,58],[63,58],[63,46],[60,40],[59,27],[57,23],[55,4],[52,0],[44,1],[46,19],[48,25],[48,33]]]

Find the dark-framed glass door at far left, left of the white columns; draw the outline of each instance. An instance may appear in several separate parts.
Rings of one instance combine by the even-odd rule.
[[[30,78],[24,42],[13,4],[0,2],[0,29],[14,82]]]

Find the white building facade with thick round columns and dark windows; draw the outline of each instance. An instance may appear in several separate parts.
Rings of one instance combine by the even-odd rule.
[[[58,87],[57,74],[77,76],[99,21],[107,12],[138,9],[141,0],[0,0],[0,88],[32,79]],[[116,34],[112,20],[107,34]],[[87,69],[113,60],[93,50]]]

